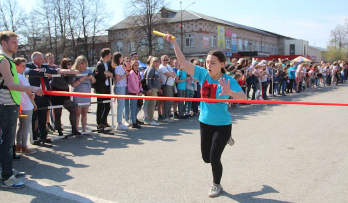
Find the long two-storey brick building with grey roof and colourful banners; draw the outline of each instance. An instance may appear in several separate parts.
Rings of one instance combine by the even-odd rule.
[[[283,55],[284,41],[293,39],[188,10],[162,8],[157,15],[166,22],[166,28],[159,31],[170,32],[176,36],[178,44],[183,44],[182,50],[185,56],[191,58],[204,57],[212,49],[221,50],[230,59]],[[128,17],[107,30],[113,51],[120,51],[125,55],[132,51],[141,52],[141,47],[136,46],[135,41],[144,41],[146,36],[139,33],[138,36],[144,38],[132,41],[128,35],[132,29],[136,27],[134,23],[132,24],[131,17]],[[169,43],[160,38],[156,40],[159,43],[155,47],[157,51],[174,55],[174,49]]]

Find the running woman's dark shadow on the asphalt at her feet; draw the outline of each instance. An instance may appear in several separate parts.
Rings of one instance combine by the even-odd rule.
[[[263,185],[263,188],[260,191],[256,192],[250,192],[250,193],[242,193],[237,195],[232,195],[224,191],[221,196],[226,196],[231,198],[234,201],[240,202],[240,203],[291,203],[291,202],[285,202],[280,200],[272,200],[272,199],[265,199],[265,198],[256,198],[255,196],[264,195],[268,193],[279,193],[274,188]]]

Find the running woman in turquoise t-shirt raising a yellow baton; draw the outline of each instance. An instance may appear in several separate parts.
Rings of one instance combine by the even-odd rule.
[[[226,57],[219,50],[212,50],[206,58],[206,69],[194,65],[185,59],[179,45],[166,34],[164,38],[173,43],[175,55],[187,71],[202,85],[201,97],[204,99],[235,99],[247,100],[245,93],[237,81],[226,74],[224,64]],[[201,154],[205,163],[210,163],[213,172],[213,184],[209,190],[209,197],[217,197],[222,193],[220,184],[222,177],[221,155],[231,138],[232,118],[226,102],[200,102],[199,114]],[[231,140],[232,141],[232,140]],[[232,144],[232,143],[231,143]]]

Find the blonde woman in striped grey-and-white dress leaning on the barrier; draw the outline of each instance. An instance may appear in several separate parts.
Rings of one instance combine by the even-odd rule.
[[[74,77],[73,82],[71,83],[71,86],[73,87],[72,92],[83,92],[83,93],[90,93],[90,89],[92,87],[92,84],[95,83],[95,78],[92,75],[92,70],[87,69],[87,59],[84,56],[79,56],[76,58],[75,63],[72,67],[73,69],[76,69],[80,71],[81,74],[91,74],[88,76],[81,76],[81,77]],[[90,97],[78,97],[74,96],[72,99],[72,102],[74,104],[80,104],[80,103],[86,103],[82,105],[78,105],[75,107],[76,112],[76,129],[79,129],[79,122],[80,122],[80,116],[81,116],[81,125],[82,125],[82,132],[86,131],[86,125],[87,125],[87,111],[88,107],[90,106]]]

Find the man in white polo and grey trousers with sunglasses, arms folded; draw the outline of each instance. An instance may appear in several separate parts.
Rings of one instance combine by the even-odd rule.
[[[159,73],[161,75],[162,85],[161,89],[163,91],[163,96],[173,96],[174,92],[174,78],[176,77],[176,73],[173,71],[172,67],[168,65],[168,56],[161,56],[161,65],[159,66]],[[163,106],[163,122],[172,123],[173,120],[169,117],[171,114],[173,101],[164,101]]]

